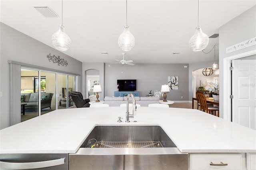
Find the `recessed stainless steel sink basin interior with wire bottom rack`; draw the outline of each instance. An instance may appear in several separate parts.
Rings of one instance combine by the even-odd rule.
[[[176,147],[160,126],[97,126],[81,148]]]

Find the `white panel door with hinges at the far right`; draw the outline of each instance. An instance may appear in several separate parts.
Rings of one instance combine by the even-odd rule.
[[[232,121],[256,129],[256,60],[233,60]]]

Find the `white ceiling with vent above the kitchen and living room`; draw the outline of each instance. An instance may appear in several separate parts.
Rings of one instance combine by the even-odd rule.
[[[214,61],[189,49],[197,26],[197,0],[128,0],[128,26],[135,46],[122,51],[118,37],[126,24],[125,0],[64,0],[63,26],[72,44],[63,53],[82,62],[116,62],[125,53],[133,63],[196,63]],[[208,36],[256,5],[256,0],[201,0],[199,25]],[[34,6],[48,6],[58,17],[47,18]],[[51,36],[61,22],[60,0],[1,0],[1,22],[50,47]],[[208,52],[219,38],[210,38]],[[102,55],[108,53],[108,55]],[[173,54],[179,53],[179,54]]]

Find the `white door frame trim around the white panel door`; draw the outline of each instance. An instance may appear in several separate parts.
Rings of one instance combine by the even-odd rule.
[[[242,57],[247,57],[250,55],[255,55],[256,49],[236,55],[232,55],[230,57],[226,57],[223,59],[223,119],[227,121],[231,121],[231,72],[230,72],[230,65],[233,59],[239,59]]]

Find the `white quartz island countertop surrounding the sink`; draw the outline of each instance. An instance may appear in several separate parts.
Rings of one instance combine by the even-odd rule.
[[[125,107],[52,111],[0,130],[0,153],[75,153],[97,125],[159,125],[184,153],[256,153],[256,130],[196,109],[138,107],[130,123],[125,114]]]

